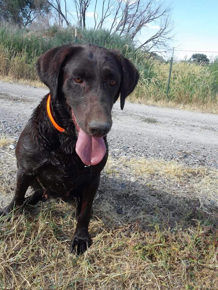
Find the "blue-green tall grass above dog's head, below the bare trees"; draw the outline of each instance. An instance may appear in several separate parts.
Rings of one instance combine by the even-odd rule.
[[[0,44],[13,54],[25,53],[27,62],[32,61],[33,53],[34,56],[40,56],[51,47],[74,43],[74,34],[74,27],[60,30],[54,26],[46,31],[28,31],[28,29],[12,29],[0,24]],[[107,30],[79,30],[77,43],[97,44],[111,49],[122,48],[124,54],[135,51],[128,37],[116,34],[111,36]]]

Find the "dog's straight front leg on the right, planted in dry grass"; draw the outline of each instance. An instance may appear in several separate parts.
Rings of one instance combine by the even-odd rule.
[[[76,231],[71,242],[71,252],[80,255],[91,245],[88,225],[90,221],[92,202],[100,182],[100,175],[92,180],[91,184],[85,186],[82,191],[81,210],[78,216]]]

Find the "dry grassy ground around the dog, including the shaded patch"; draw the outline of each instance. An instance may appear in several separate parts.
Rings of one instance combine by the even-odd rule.
[[[7,154],[0,160],[5,196],[15,185]],[[217,190],[217,170],[109,159],[83,256],[69,252],[74,203],[48,201],[0,219],[0,289],[215,290],[218,217],[210,199],[218,201]]]

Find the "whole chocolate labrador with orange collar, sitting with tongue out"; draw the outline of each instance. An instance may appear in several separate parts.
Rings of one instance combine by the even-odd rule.
[[[120,95],[135,88],[139,74],[120,52],[94,45],[64,45],[48,50],[36,63],[48,86],[46,95],[22,131],[17,147],[14,198],[0,215],[27,201],[77,197],[78,223],[71,251],[90,247],[88,224],[101,171],[107,162],[111,109]]]

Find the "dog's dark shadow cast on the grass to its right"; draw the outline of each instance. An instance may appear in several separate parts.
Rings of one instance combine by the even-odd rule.
[[[189,228],[196,223],[216,228],[217,204],[183,196],[180,189],[175,191],[175,188],[172,191],[169,187],[157,188],[143,180],[131,182],[103,176],[93,214],[109,227],[137,222],[142,230],[151,230],[156,225],[160,229]]]

